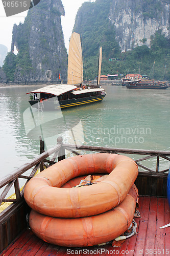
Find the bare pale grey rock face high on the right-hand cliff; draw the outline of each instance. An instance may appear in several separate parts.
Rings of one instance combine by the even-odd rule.
[[[112,0],[108,18],[122,51],[143,43],[150,47],[158,30],[169,37],[169,8],[170,2],[164,0]]]

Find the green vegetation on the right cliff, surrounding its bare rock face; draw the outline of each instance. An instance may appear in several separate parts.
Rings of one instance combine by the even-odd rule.
[[[153,2],[154,8],[159,5],[159,1],[141,1],[140,10],[146,12]],[[150,48],[145,45],[147,39],[143,38],[140,40],[142,46],[121,53],[114,25],[109,19],[111,3],[111,0],[85,2],[77,13],[74,31],[82,35],[84,70],[86,70],[84,79],[94,79],[97,75],[99,47],[102,46],[102,74],[138,74],[140,69],[141,75],[149,76],[155,61],[154,79],[170,80],[170,40],[158,30],[151,37]],[[154,9],[150,10],[151,16],[154,13]],[[145,16],[147,14],[144,14]]]

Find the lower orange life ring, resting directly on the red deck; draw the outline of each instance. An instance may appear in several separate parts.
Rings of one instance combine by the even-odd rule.
[[[109,242],[124,233],[132,223],[138,191],[133,184],[122,203],[103,214],[85,218],[53,218],[32,210],[30,227],[45,242],[84,247]],[[63,228],[64,227],[64,228]]]

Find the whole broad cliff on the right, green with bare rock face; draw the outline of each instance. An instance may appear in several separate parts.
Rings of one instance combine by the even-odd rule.
[[[97,75],[100,46],[103,74],[138,74],[140,67],[141,74],[149,75],[155,62],[154,78],[170,79],[169,6],[170,0],[85,2],[78,10],[74,31],[82,34],[89,79]]]

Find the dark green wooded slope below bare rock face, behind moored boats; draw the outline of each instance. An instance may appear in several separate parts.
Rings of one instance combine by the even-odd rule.
[[[123,73],[148,75],[151,79],[170,80],[170,40],[158,30],[151,40],[151,48],[138,46],[134,50],[121,53],[120,60],[104,60],[103,73]],[[154,73],[152,73],[153,63]],[[165,69],[166,67],[166,69]],[[108,73],[108,74],[109,74]]]

